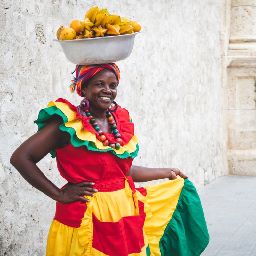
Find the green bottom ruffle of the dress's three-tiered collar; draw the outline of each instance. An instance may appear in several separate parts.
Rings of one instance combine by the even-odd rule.
[[[38,125],[38,131],[41,130],[47,124],[48,120],[53,115],[59,115],[59,116],[62,117],[63,124],[60,125],[60,130],[68,132],[70,134],[70,142],[74,147],[86,146],[88,148],[88,150],[92,150],[92,151],[98,151],[98,152],[110,151],[112,154],[118,156],[119,158],[123,158],[123,159],[128,158],[128,157],[135,158],[138,155],[138,151],[139,151],[139,145],[138,144],[136,145],[136,150],[134,152],[128,153],[127,151],[125,151],[123,154],[120,155],[120,154],[116,154],[116,152],[112,148],[98,149],[96,147],[96,145],[94,144],[94,142],[80,140],[79,138],[77,138],[76,131],[73,128],[66,127],[64,125],[66,122],[68,122],[68,118],[56,106],[52,106],[52,107],[48,107],[48,108],[44,108],[44,109],[40,110],[37,120],[34,121],[34,123],[36,123]],[[55,150],[52,150],[50,153],[51,153],[53,158],[56,157],[56,151]]]

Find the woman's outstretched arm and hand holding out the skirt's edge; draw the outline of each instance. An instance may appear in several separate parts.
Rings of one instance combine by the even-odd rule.
[[[148,168],[132,165],[127,172],[127,176],[131,175],[134,182],[147,182],[151,180],[166,179],[174,180],[177,175],[187,179],[188,176],[180,172],[177,168]]]

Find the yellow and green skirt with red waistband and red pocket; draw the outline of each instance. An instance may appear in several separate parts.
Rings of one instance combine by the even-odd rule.
[[[188,179],[135,189],[128,176],[94,187],[98,192],[88,197],[79,228],[53,220],[46,256],[196,256],[209,243],[201,202]]]

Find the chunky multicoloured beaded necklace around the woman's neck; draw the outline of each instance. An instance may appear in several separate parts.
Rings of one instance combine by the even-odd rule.
[[[107,110],[106,112],[106,117],[108,119],[108,123],[110,125],[110,129],[112,131],[112,133],[114,134],[114,138],[116,143],[110,143],[106,136],[103,134],[103,132],[100,130],[100,127],[98,126],[98,124],[95,122],[95,119],[93,118],[92,114],[90,113],[89,110],[85,110],[85,113],[82,114],[82,116],[87,116],[90,118],[89,123],[92,124],[92,127],[94,127],[94,129],[98,132],[98,134],[100,135],[100,140],[102,141],[104,146],[109,146],[113,149],[118,150],[121,147],[121,144],[123,142],[123,140],[121,139],[121,134],[119,133],[119,131],[117,130],[117,126],[116,123],[113,119],[113,117],[111,116],[111,114],[109,113],[109,111]]]

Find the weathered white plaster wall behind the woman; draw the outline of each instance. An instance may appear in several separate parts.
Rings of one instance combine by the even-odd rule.
[[[75,65],[53,39],[60,25],[83,19],[92,6],[142,24],[132,54],[117,62],[116,101],[130,111],[140,139],[134,164],[179,167],[197,188],[226,171],[220,152],[221,1],[0,2],[0,255],[45,253],[55,202],[32,188],[9,159],[37,131],[33,121],[50,100],[80,102],[68,92]],[[39,166],[55,184],[64,183],[50,155]]]

